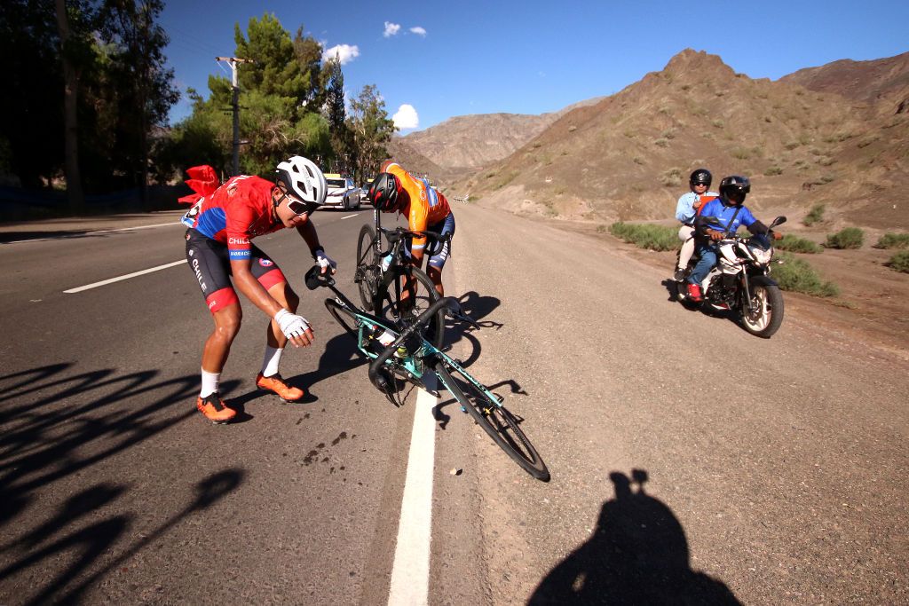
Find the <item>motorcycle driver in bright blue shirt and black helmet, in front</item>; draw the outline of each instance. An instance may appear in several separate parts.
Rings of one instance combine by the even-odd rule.
[[[744,205],[745,196],[751,192],[748,177],[733,174],[724,177],[720,182],[720,197],[704,204],[694,221],[697,237],[697,253],[700,255],[694,270],[688,276],[688,296],[694,302],[703,301],[701,283],[707,273],[716,264],[715,242],[724,239],[726,234],[734,234],[739,225],[744,225],[751,233],[768,233],[769,228],[754,218],[754,214]],[[713,221],[708,219],[714,217]],[[783,237],[774,233],[774,238]]]

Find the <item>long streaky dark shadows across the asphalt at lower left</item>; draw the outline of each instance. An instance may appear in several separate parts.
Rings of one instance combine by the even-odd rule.
[[[57,363],[0,375],[0,595],[16,595],[21,603],[78,601],[120,561],[243,478],[242,470],[213,473],[198,482],[183,511],[121,546],[131,523],[147,512],[117,507],[131,485],[95,482],[103,477],[95,466],[106,462],[97,469],[109,472],[109,459],[197,415],[191,402],[198,377],[161,380],[156,370],[73,373],[73,367]],[[74,482],[85,488],[72,494]],[[180,480],[173,484],[178,490]],[[111,560],[115,551],[121,555]]]

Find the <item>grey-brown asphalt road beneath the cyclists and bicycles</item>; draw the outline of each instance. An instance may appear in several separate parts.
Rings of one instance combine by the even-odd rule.
[[[756,339],[605,239],[454,211],[447,293],[484,328],[452,350],[553,479],[443,398],[428,581],[405,566],[405,586],[433,604],[909,601],[907,364],[797,316]],[[371,213],[350,215],[315,223],[353,295]],[[211,321],[185,264],[64,293],[181,261],[173,221],[0,230],[0,604],[388,603],[422,404],[369,384],[302,285],[295,233],[256,243],[315,326],[282,364],[310,395],[255,391],[265,318],[247,303],[228,426],[195,411]]]

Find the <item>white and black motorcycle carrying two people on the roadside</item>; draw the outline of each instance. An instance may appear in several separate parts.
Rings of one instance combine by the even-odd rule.
[[[706,217],[710,222],[714,217]],[[778,216],[770,224],[773,230],[784,224],[786,218]],[[738,313],[742,326],[755,336],[769,339],[783,323],[783,293],[770,277],[770,263],[774,256],[773,233],[751,237],[726,233],[716,242],[716,261],[713,269],[701,283],[704,306],[714,310]],[[684,277],[675,284],[679,302],[691,302],[687,278],[698,261],[695,253],[685,268]]]

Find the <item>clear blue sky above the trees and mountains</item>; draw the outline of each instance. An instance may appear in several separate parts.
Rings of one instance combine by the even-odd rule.
[[[614,94],[689,47],[772,79],[909,51],[905,0],[171,0],[161,25],[181,92],[207,95],[208,75],[227,74],[214,57],[233,55],[234,24],[245,31],[265,12],[291,35],[302,25],[326,49],[341,45],[348,94],[377,85],[405,134],[454,115],[542,114]],[[414,111],[399,114],[405,105]],[[184,98],[172,122],[189,111]]]

